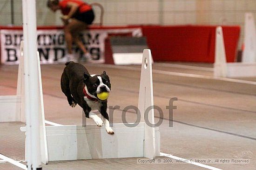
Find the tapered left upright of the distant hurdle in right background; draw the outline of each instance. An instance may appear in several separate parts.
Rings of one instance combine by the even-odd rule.
[[[227,76],[227,61],[222,27],[216,28],[214,76]]]

